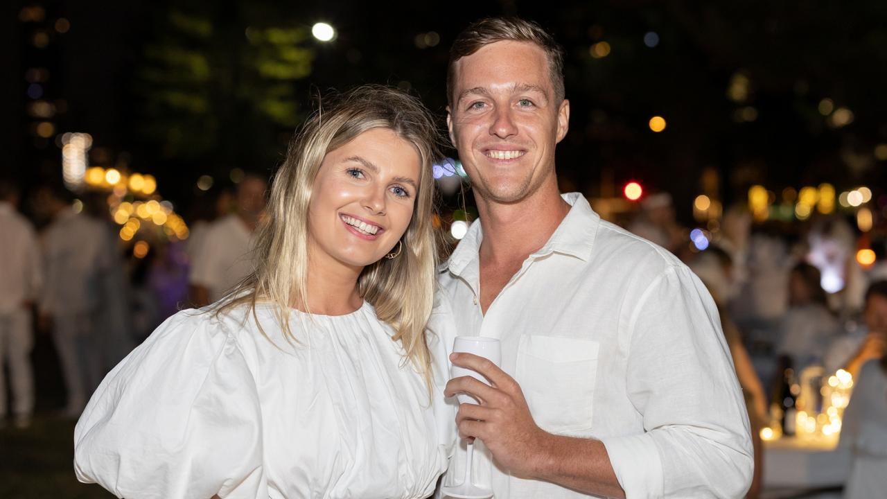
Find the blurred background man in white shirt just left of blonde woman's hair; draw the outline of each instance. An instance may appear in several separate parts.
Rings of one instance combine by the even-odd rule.
[[[247,174],[237,186],[237,213],[220,218],[208,229],[191,267],[195,306],[224,297],[253,271],[253,233],[265,208],[264,178]]]

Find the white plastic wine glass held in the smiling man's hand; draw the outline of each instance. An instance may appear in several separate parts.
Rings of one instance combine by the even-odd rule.
[[[456,337],[455,343],[452,345],[453,352],[474,353],[479,357],[491,360],[493,364],[499,366],[502,361],[502,348],[497,338],[491,337]],[[452,377],[472,376],[475,379],[483,381],[485,384],[490,382],[477,371],[459,366],[452,366],[450,370]],[[460,404],[476,404],[479,403],[471,395],[459,393],[457,395]],[[465,455],[465,477],[462,483],[451,487],[441,487],[443,495],[457,497],[459,499],[486,499],[492,497],[493,491],[488,488],[477,487],[471,482],[471,464],[474,460],[475,444],[469,441],[467,444],[467,454]]]

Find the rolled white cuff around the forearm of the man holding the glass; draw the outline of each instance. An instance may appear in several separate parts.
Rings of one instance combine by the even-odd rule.
[[[648,433],[601,439],[626,499],[662,497],[663,463]]]

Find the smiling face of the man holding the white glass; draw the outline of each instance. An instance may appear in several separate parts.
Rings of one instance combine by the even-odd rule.
[[[447,124],[475,193],[513,203],[553,181],[569,102],[554,95],[545,51],[496,42],[457,60],[454,69]]]

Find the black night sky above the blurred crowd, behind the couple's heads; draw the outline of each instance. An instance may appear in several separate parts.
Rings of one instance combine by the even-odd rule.
[[[164,197],[187,204],[200,175],[220,183],[232,168],[271,175],[313,99],[332,88],[408,88],[441,116],[443,130],[453,37],[471,20],[517,14],[537,20],[568,51],[572,113],[557,159],[565,190],[598,196],[602,189],[608,194],[601,178],[616,188],[639,180],[649,192],[671,193],[681,218],[689,217],[705,169],[718,172],[725,204],[743,202],[753,183],[775,192],[820,182],[838,190],[867,184],[878,194],[887,184],[887,162],[875,154],[887,143],[887,4],[819,4],[12,2],[0,26],[0,171],[26,187],[59,176],[59,147],[35,136],[43,118],[27,111],[34,100],[29,68],[48,71],[41,99],[56,106],[56,134],[90,133],[90,163],[124,161],[155,175]],[[23,9],[34,6],[43,7],[43,20],[22,20]],[[211,35],[183,36],[170,21],[179,14],[209,26]],[[70,23],[65,33],[59,18]],[[294,43],[311,54],[307,75],[283,90],[251,76],[258,52],[249,48],[247,28],[305,34],[318,21],[338,36],[328,44],[310,36]],[[38,47],[41,30],[48,43]],[[648,46],[650,33],[655,46]],[[426,41],[436,44],[421,47]],[[600,43],[608,53],[595,58]],[[596,47],[597,55],[607,51]],[[167,80],[151,79],[158,57],[180,52],[208,61],[205,88],[170,83],[175,68]],[[207,98],[200,115],[183,120],[152,104],[170,85],[183,84]],[[275,91],[288,92],[294,103],[277,122],[255,110]],[[850,114],[837,113],[842,108]],[[648,128],[654,115],[667,122],[661,133]],[[175,137],[167,135],[177,146],[158,139],[168,128],[176,128]]]

